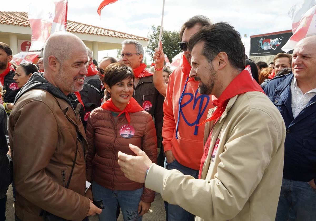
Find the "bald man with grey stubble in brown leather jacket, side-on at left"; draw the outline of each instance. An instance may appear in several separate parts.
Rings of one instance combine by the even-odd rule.
[[[32,75],[9,119],[15,220],[44,221],[49,213],[87,220],[101,213],[84,196],[88,143],[73,93],[83,88],[87,49],[71,33],[54,33],[46,41],[43,62],[44,75]]]

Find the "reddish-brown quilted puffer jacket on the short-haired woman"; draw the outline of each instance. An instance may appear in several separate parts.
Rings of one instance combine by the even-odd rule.
[[[89,144],[87,156],[87,180],[111,190],[135,190],[142,188],[143,183],[133,182],[124,176],[118,164],[118,152],[130,155],[128,145],[131,143],[142,149],[152,162],[157,162],[157,139],[154,121],[146,111],[130,113],[130,125],[135,129],[131,138],[121,137],[119,131],[127,125],[125,116],[119,117],[115,124],[111,111],[98,107],[88,118],[87,140]],[[141,200],[153,202],[155,191],[143,189]]]

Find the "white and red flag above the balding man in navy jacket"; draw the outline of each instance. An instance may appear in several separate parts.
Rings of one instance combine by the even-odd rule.
[[[305,0],[294,5],[289,10],[289,16],[292,19],[293,35],[282,47],[286,52],[293,50],[297,42],[307,35],[316,34],[316,0]]]

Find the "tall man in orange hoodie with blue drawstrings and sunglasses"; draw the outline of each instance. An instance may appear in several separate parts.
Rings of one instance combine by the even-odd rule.
[[[203,155],[204,126],[198,127],[213,108],[212,97],[198,92],[198,82],[189,77],[191,53],[186,45],[191,35],[197,33],[210,20],[197,15],[181,27],[179,47],[184,51],[182,64],[169,76],[166,99],[163,105],[162,128],[163,147],[167,158],[167,169],[177,169],[184,175],[198,177]],[[156,60],[157,59],[157,60]],[[162,48],[155,50],[155,75],[162,75],[164,53]],[[161,70],[160,70],[161,69]],[[178,205],[168,204],[168,221],[191,221],[194,215]]]

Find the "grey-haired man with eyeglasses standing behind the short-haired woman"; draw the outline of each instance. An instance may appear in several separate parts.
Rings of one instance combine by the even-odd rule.
[[[143,63],[143,46],[135,40],[125,40],[122,42],[122,52],[120,58],[122,63],[130,66],[135,75],[134,94],[145,111],[155,119],[158,148],[161,147],[161,131],[163,123],[163,101],[164,97],[157,91],[153,84],[153,73],[146,69]]]

